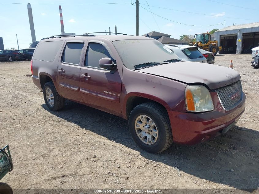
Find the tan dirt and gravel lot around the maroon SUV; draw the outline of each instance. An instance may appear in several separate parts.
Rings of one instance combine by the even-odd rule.
[[[217,55],[241,74],[246,111],[233,129],[162,154],[140,150],[127,121],[66,101],[51,112],[32,83],[30,62],[0,63],[0,146],[9,143],[12,188],[259,188],[259,69],[251,55]],[[93,155],[96,154],[96,158]],[[180,172],[175,169],[177,167]]]

